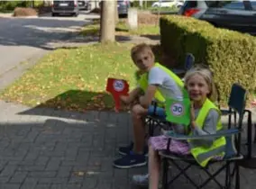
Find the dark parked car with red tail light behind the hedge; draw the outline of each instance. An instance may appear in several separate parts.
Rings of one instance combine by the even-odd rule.
[[[256,34],[255,1],[186,1],[178,14],[204,20],[216,27]]]

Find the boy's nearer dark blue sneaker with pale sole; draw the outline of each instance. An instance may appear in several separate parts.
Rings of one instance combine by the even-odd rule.
[[[143,154],[130,154],[114,160],[114,166],[117,168],[132,168],[135,166],[145,166],[147,164],[146,157]]]

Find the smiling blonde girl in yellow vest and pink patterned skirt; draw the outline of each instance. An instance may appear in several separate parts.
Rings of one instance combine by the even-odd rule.
[[[193,135],[215,134],[222,129],[221,114],[215,106],[212,95],[215,93],[213,76],[209,69],[195,67],[187,71],[185,87],[191,100],[190,131]],[[182,127],[182,126],[179,126]],[[174,129],[175,130],[175,129]],[[178,132],[180,133],[178,129]],[[177,132],[177,130],[175,130]],[[183,130],[183,133],[184,130]],[[157,189],[160,177],[160,158],[158,151],[167,148],[168,138],[164,135],[151,137],[149,140],[149,174],[133,175],[135,184],[150,184],[150,189]],[[214,145],[213,145],[214,144]],[[225,139],[201,139],[184,141],[171,139],[169,151],[179,155],[192,154],[198,164],[206,166],[211,158],[224,157]],[[198,150],[199,149],[199,150]],[[215,151],[215,153],[213,153]],[[209,152],[209,153],[208,153]],[[200,153],[205,158],[200,157]],[[209,154],[207,156],[207,153]]]

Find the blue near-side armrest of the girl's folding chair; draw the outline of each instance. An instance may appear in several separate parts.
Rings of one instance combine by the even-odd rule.
[[[198,136],[188,136],[183,134],[174,133],[172,130],[164,131],[164,135],[170,139],[211,139],[211,138],[218,138],[218,137],[227,137],[232,136],[234,134],[238,134],[241,130],[231,129],[231,130],[220,130],[215,134],[207,134],[207,135],[198,135]]]

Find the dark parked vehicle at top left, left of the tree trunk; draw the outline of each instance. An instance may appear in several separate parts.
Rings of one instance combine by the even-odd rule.
[[[56,16],[59,14],[71,14],[78,16],[79,7],[78,0],[68,1],[68,0],[53,0],[51,5],[51,15]]]

